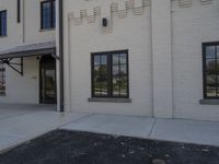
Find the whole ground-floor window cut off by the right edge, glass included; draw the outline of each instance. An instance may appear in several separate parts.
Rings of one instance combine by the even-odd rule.
[[[203,44],[204,98],[219,98],[219,43]]]

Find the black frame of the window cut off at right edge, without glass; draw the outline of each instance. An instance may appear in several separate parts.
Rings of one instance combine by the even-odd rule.
[[[219,72],[217,70],[217,62],[219,61],[219,58],[217,57],[217,46],[219,46],[219,42],[210,42],[210,43],[203,43],[203,94],[204,94],[204,99],[219,99],[219,96],[217,96],[219,92],[219,86],[216,86],[216,96],[208,96],[207,95],[207,68],[206,68],[206,61],[207,61],[207,55],[206,55],[206,47],[208,46],[215,46],[215,62],[216,62],[216,85],[219,83]],[[208,60],[211,58],[208,58]]]

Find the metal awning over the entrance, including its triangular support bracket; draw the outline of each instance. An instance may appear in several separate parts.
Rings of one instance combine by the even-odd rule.
[[[0,62],[8,65],[14,71],[23,75],[23,58],[43,55],[51,55],[54,58],[59,59],[59,57],[56,56],[56,43],[47,42],[22,45],[4,51],[0,51]],[[20,62],[12,62],[14,58],[20,58]]]

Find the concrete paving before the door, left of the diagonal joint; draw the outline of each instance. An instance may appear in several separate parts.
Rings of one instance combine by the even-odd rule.
[[[49,105],[0,105],[0,153],[88,114],[60,114]]]

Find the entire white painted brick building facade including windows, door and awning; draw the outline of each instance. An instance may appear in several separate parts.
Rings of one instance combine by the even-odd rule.
[[[219,120],[219,1],[0,0],[0,73],[5,77],[0,102]],[[9,59],[20,61],[18,55],[22,74],[8,65]]]

